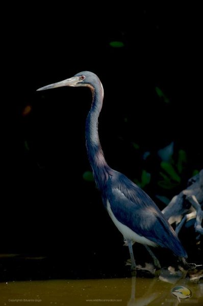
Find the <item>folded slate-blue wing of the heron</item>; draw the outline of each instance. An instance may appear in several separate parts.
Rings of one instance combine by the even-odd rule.
[[[107,184],[106,196],[117,220],[156,244],[187,257],[180,240],[155,202],[123,174],[116,172]]]

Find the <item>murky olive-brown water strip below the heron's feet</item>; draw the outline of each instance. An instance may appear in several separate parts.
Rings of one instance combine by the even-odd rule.
[[[146,271],[146,267],[145,270]],[[203,270],[161,269],[158,276],[0,283],[0,304],[29,305],[203,305]],[[149,276],[149,274],[147,274]],[[174,293],[174,295],[172,294]],[[177,298],[179,297],[179,299]]]

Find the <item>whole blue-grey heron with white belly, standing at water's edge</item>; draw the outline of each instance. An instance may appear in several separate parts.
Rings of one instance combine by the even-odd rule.
[[[96,74],[83,71],[74,77],[44,86],[38,90],[62,86],[89,87],[92,105],[86,120],[86,146],[94,180],[102,194],[105,208],[129,246],[131,268],[135,269],[134,242],[169,248],[185,261],[187,253],[179,238],[154,201],[136,184],[107,164],[98,136],[98,116],[102,109],[104,89]],[[151,250],[147,247],[152,254]],[[155,258],[154,258],[155,259]]]

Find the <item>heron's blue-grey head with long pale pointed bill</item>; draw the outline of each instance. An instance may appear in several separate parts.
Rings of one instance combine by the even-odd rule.
[[[74,75],[74,77],[70,79],[63,80],[61,82],[57,82],[54,84],[50,84],[44,87],[37,89],[39,90],[46,90],[51,88],[63,87],[63,86],[72,86],[72,87],[79,87],[79,86],[86,86],[89,87],[92,91],[96,87],[102,87],[102,83],[99,81],[99,78],[96,74],[90,71],[82,71]]]

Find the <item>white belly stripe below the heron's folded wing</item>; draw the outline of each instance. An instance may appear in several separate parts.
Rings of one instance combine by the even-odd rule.
[[[123,235],[123,237],[126,240],[130,239],[133,242],[139,242],[141,244],[156,246],[156,243],[154,243],[153,241],[150,241],[149,239],[147,239],[143,236],[139,236],[134,231],[132,231],[131,228],[129,228],[128,226],[126,226],[126,225],[122,224],[120,221],[118,221],[116,219],[116,217],[114,216],[112,210],[111,210],[111,206],[110,206],[109,201],[107,201],[107,211],[108,211],[112,221],[114,222],[114,224],[116,225],[116,227],[118,228],[118,230],[120,231],[120,233]]]

